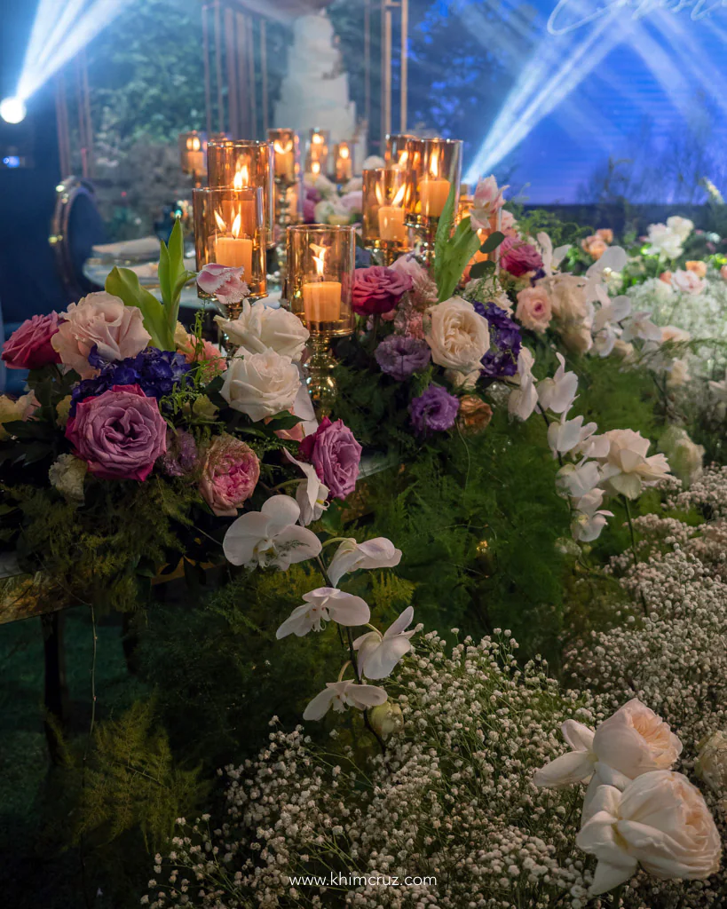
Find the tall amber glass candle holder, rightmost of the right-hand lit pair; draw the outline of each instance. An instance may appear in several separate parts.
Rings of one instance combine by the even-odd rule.
[[[455,199],[459,199],[462,141],[413,139],[407,147],[410,160],[416,158],[419,164],[416,170],[409,171],[406,224],[420,236],[423,253],[431,264],[437,225],[452,188]]]

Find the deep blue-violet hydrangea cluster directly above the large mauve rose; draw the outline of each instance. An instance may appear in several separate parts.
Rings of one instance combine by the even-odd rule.
[[[102,395],[114,385],[138,385],[144,395],[155,397],[157,400],[169,395],[174,385],[182,385],[187,381],[187,373],[192,368],[184,359],[184,355],[175,354],[169,350],[158,350],[156,347],[144,347],[144,350],[135,356],[127,356],[125,360],[117,363],[106,363],[95,348],[88,355],[88,362],[100,368],[101,372],[93,379],[84,379],[71,392],[71,409],[69,414],[75,415],[75,407],[79,401],[94,395]]]

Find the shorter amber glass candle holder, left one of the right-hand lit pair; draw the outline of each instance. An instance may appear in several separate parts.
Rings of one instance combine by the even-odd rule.
[[[399,167],[364,170],[364,246],[381,253],[391,265],[413,247],[412,229],[405,223],[408,171]]]

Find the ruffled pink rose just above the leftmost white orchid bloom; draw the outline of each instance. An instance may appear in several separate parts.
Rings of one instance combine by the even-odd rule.
[[[199,491],[218,517],[235,517],[259,479],[260,462],[250,445],[220,435],[204,454]]]

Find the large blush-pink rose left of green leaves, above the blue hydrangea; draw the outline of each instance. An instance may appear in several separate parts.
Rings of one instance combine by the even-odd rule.
[[[140,354],[152,336],[144,328],[142,311],[124,306],[117,296],[99,291],[72,303],[62,313],[51,344],[61,362],[75,369],[82,379],[97,375],[88,355],[95,346],[108,363]]]

